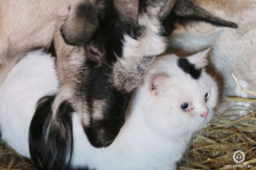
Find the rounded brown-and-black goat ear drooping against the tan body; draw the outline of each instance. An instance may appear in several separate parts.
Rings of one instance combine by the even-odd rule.
[[[61,35],[70,45],[84,45],[99,27],[97,4],[93,0],[80,0],[69,7],[68,17],[61,26]]]

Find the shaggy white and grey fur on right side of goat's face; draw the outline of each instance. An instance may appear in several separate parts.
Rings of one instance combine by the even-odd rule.
[[[148,7],[148,14],[141,13],[138,18],[138,25],[142,26],[143,32],[140,38],[133,39],[124,35],[123,57],[118,58],[113,66],[112,82],[117,89],[132,91],[145,80],[145,71],[153,65],[155,57],[164,53],[167,47],[167,40],[161,36],[161,23],[159,11],[161,5]],[[144,57],[149,57],[146,59]],[[140,67],[140,71],[138,71]],[[125,83],[125,81],[129,83]]]

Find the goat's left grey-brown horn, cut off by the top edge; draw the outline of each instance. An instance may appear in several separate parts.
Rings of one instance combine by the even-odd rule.
[[[124,22],[136,24],[139,15],[139,0],[114,0],[119,18]]]

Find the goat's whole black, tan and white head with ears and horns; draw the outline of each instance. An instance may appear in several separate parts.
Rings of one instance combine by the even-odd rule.
[[[237,27],[189,0],[78,2],[61,26],[70,45],[60,33],[54,40],[60,93],[52,109],[54,117],[61,103],[70,103],[95,147],[116,138],[133,89],[143,83],[156,55],[165,51],[175,23]]]

